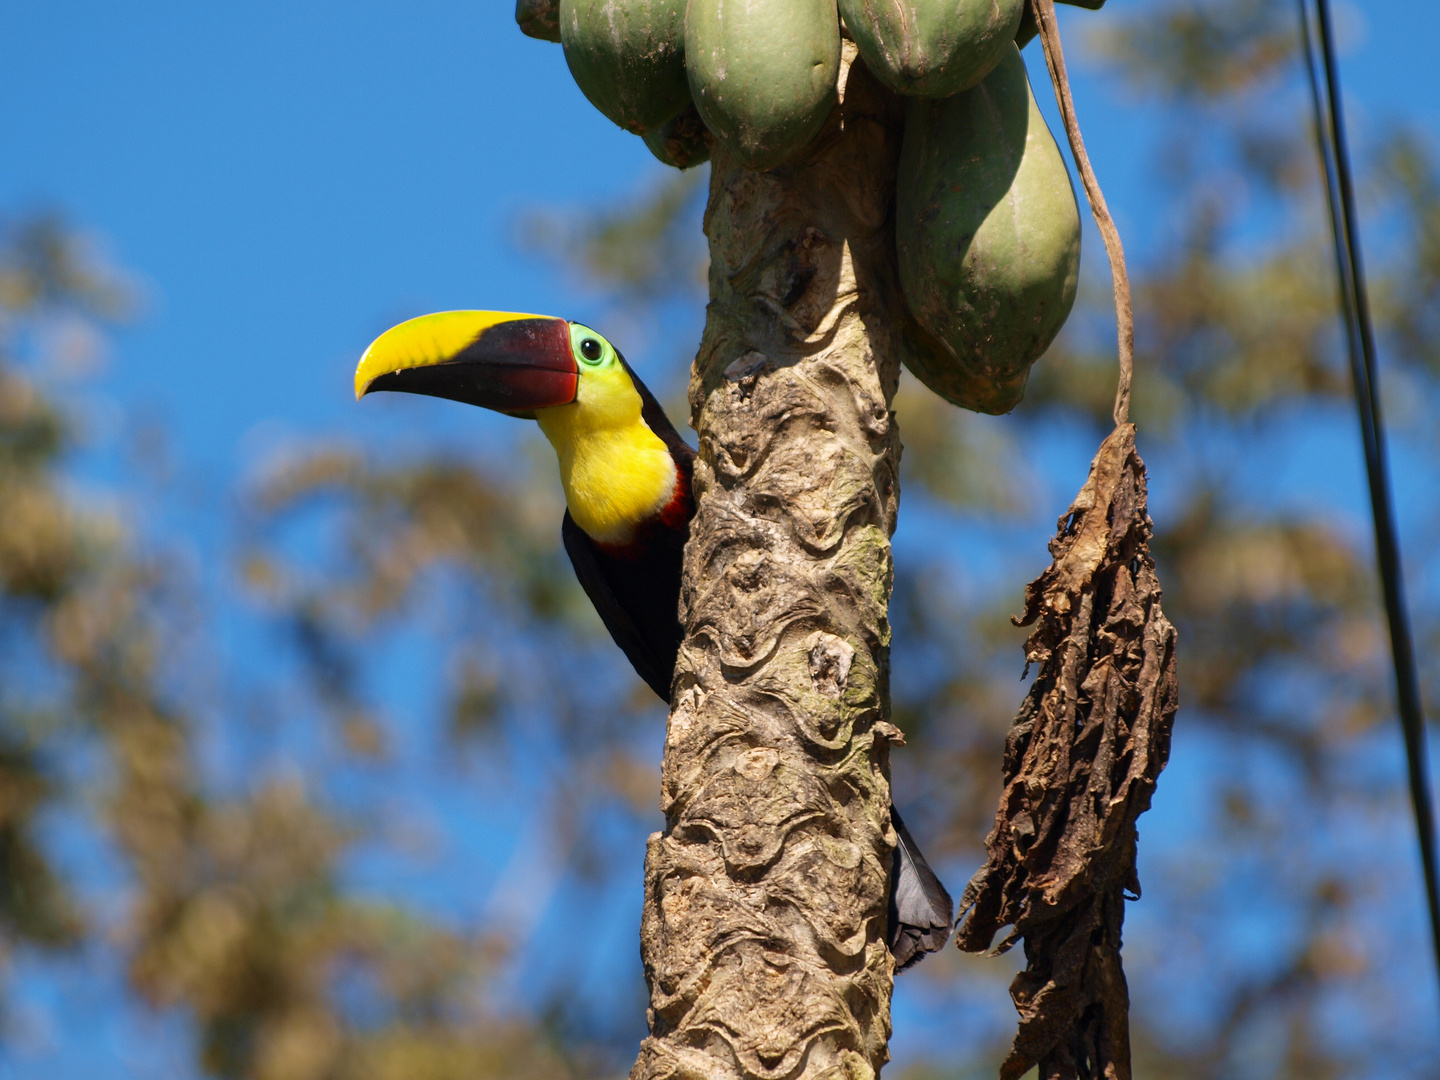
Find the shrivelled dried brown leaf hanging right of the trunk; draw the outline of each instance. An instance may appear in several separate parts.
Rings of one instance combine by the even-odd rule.
[[[1135,821],[1151,805],[1175,716],[1175,628],[1149,553],[1135,426],[1100,445],[1025,589],[1027,671],[1040,671],[1005,744],[989,860],[960,899],[960,949],[1025,940],[1011,984],[1020,1031],[1001,1080],[1129,1080],[1120,968],[1125,894],[1139,897]]]

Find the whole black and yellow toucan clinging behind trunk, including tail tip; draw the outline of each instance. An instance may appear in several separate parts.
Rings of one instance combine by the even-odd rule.
[[[670,703],[696,452],[605,337],[510,311],[441,311],[387,330],[360,357],[356,400],[376,390],[449,397],[533,419],[564,485],[560,534],[586,596],[635,672]],[[888,945],[899,971],[945,945],[953,901],[900,815]]]

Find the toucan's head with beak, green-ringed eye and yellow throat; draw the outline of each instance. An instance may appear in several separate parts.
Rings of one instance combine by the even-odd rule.
[[[642,416],[642,389],[589,327],[510,311],[412,318],[380,334],[356,369],[356,399],[405,390],[539,420],[570,513],[600,541],[629,536],[675,488],[671,452]]]

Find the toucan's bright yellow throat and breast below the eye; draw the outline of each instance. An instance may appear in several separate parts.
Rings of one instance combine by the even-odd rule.
[[[582,370],[570,405],[536,410],[560,458],[570,517],[602,544],[628,543],[635,527],[675,494],[675,461],[641,419],[641,405],[629,374],[615,361]]]

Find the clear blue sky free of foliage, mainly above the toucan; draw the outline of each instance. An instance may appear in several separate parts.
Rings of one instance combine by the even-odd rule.
[[[1076,40],[1087,22],[1139,3],[1064,9],[1063,27]],[[374,439],[376,412],[354,405],[350,373],[400,318],[455,307],[596,315],[593,295],[517,252],[514,223],[536,207],[613,200],[662,170],[585,101],[559,46],[518,33],[511,10],[507,0],[0,4],[0,210],[60,209],[138,275],[141,317],[118,334],[99,387],[166,419],[193,484],[230,484],[307,433]],[[1394,10],[1341,9],[1352,131],[1364,141],[1404,115],[1440,144],[1433,35],[1397,33]],[[1092,158],[1143,258],[1164,114],[1093,78],[1074,52]],[[1041,89],[1035,49],[1027,59]],[[1051,98],[1038,96],[1058,130]],[[631,359],[655,373],[654,359]],[[459,416],[431,403],[399,415],[478,438],[507,423]],[[1325,448],[1355,454],[1345,468],[1358,477],[1358,451]],[[104,478],[104,462],[95,472]],[[202,498],[176,511],[184,527],[216,530],[197,537],[200,559],[220,534],[215,508]],[[608,917],[634,920],[632,906]],[[180,1038],[134,1017],[112,1022],[130,1025],[131,1047],[137,1030]],[[901,1056],[906,1022],[899,1015]],[[143,1061],[132,1068],[150,1074]]]

